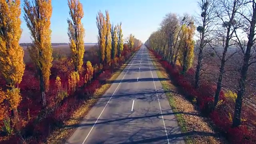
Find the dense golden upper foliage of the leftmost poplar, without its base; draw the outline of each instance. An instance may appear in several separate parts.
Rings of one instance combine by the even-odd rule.
[[[0,71],[10,86],[21,82],[25,69],[24,51],[19,45],[20,13],[20,0],[15,4],[0,0]]]

